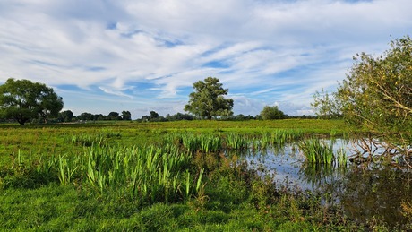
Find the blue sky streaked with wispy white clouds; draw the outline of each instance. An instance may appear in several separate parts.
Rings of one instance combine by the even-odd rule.
[[[185,113],[219,78],[234,114],[312,115],[365,52],[412,31],[410,0],[0,0],[0,84],[52,87],[64,110]]]

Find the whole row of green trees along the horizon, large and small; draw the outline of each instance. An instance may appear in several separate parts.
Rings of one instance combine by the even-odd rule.
[[[138,122],[166,122],[180,120],[273,120],[284,119],[290,116],[284,114],[277,106],[266,106],[257,116],[234,116],[233,99],[227,99],[228,89],[224,89],[218,78],[208,77],[204,81],[193,84],[193,93],[189,95],[189,102],[185,111],[189,114],[176,113],[175,115],[159,116],[156,111],[142,116]],[[61,111],[63,99],[56,95],[52,88],[29,80],[9,79],[0,85],[0,122],[25,123],[69,123],[105,120],[132,120],[129,111],[110,112],[107,116],[84,112],[74,116],[71,110]],[[293,116],[306,118],[311,116]]]

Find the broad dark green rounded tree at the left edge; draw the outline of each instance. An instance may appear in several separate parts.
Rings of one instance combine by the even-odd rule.
[[[0,85],[0,116],[20,125],[36,118],[47,121],[62,108],[63,99],[45,84],[11,78]]]

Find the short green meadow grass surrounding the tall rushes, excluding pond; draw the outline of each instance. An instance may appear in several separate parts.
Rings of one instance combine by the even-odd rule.
[[[185,195],[179,192],[185,189],[182,184],[174,198],[165,200],[156,197],[150,201],[131,195],[128,180],[113,187],[105,184],[105,188],[98,189],[97,185],[87,180],[87,168],[73,167],[69,170],[70,173],[73,171],[73,178],[62,182],[59,177],[61,172],[58,171],[59,167],[64,167],[61,163],[52,162],[49,168],[40,165],[47,164],[56,156],[76,159],[85,152],[85,148],[91,149],[92,144],[97,142],[115,147],[162,146],[161,142],[174,133],[256,135],[279,129],[294,129],[305,134],[348,133],[342,121],[323,120],[193,121],[22,128],[2,125],[0,228],[25,231],[386,229],[379,221],[359,223],[349,220],[339,206],[322,205],[321,196],[316,193],[276,186],[270,176],[258,176],[236,155],[227,157],[219,152],[194,152],[185,168],[187,173],[196,175],[199,175],[198,170],[204,169],[200,183],[202,187]],[[107,175],[114,174],[109,170]],[[185,176],[177,175],[176,178],[185,180]],[[96,183],[99,184],[99,181]]]

